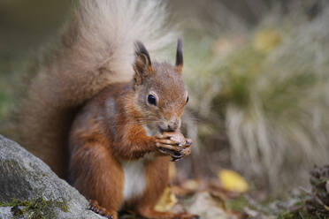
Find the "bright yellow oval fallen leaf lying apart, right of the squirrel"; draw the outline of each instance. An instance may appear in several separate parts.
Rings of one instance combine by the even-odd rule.
[[[223,185],[223,188],[236,193],[245,193],[249,189],[249,185],[241,177],[240,174],[234,172],[233,170],[220,170],[218,173],[218,178]]]

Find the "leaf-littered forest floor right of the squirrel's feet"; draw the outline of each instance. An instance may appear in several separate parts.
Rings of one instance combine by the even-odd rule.
[[[157,203],[159,211],[172,211],[201,215],[203,219],[278,218],[307,219],[329,218],[329,165],[316,167],[310,172],[310,188],[295,188],[283,198],[257,200],[260,191],[249,191],[237,173],[225,170],[218,181],[198,182],[187,180],[165,190]],[[141,219],[124,212],[122,219]]]

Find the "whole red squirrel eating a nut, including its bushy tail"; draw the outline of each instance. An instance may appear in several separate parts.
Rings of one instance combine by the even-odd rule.
[[[177,39],[165,24],[159,1],[80,0],[61,41],[34,65],[22,102],[20,143],[108,218],[121,208],[146,218],[198,218],[153,209],[170,160],[192,145],[180,133],[188,101],[182,43],[174,65],[149,56],[149,48]]]

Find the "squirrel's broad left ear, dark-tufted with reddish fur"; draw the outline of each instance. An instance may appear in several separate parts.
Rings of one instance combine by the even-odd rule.
[[[135,43],[135,56],[134,61],[134,80],[136,84],[142,84],[142,79],[152,72],[152,65],[149,58],[149,52],[142,42]]]

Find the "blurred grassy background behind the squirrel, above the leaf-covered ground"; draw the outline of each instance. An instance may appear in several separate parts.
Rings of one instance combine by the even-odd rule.
[[[305,185],[329,157],[329,6],[320,0],[168,1],[184,40],[184,130],[195,148],[177,181],[234,170],[252,190]],[[0,125],[21,76],[72,1],[0,1]],[[4,130],[11,136],[9,130]]]

